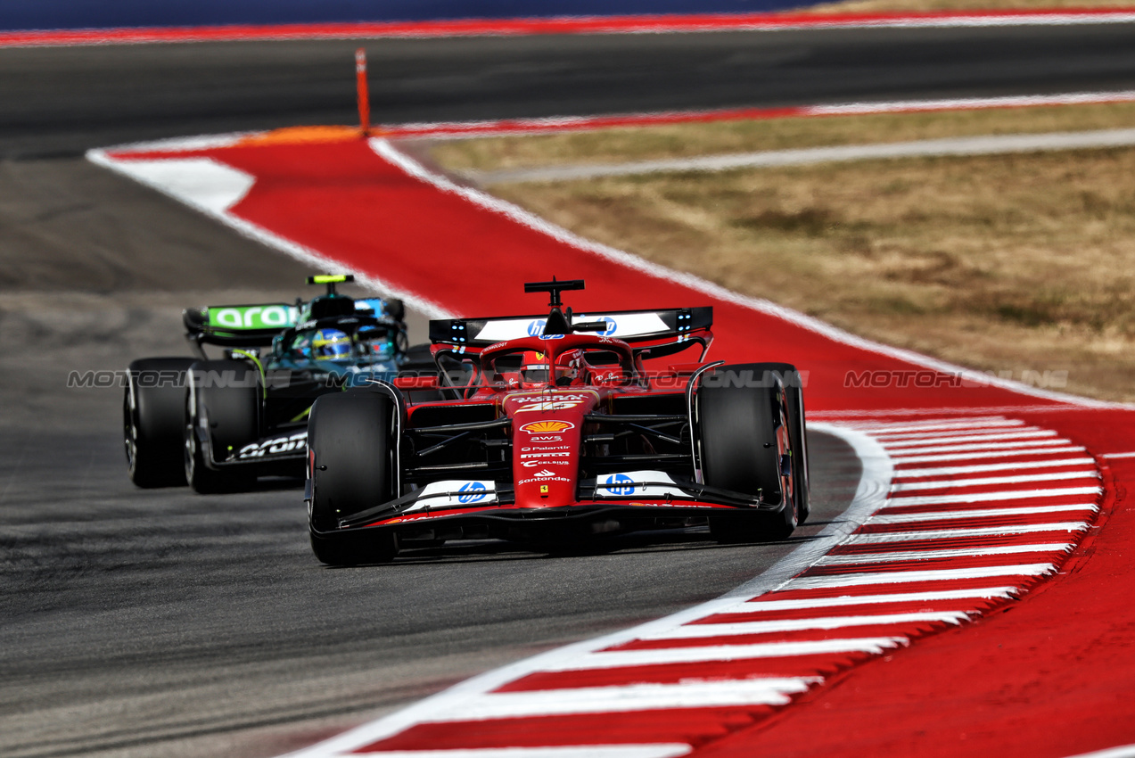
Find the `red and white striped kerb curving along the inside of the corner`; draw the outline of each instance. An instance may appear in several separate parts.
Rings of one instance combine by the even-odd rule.
[[[1100,471],[1087,450],[1017,419],[843,429],[885,450],[885,498],[787,581],[522,662],[295,755],[695,753],[857,664],[1020,598],[1059,570],[1100,508]],[[989,449],[925,461],[958,438],[994,449],[1052,445],[1041,454],[1010,447],[1017,458],[995,463]],[[1018,465],[1031,473],[997,473]]]

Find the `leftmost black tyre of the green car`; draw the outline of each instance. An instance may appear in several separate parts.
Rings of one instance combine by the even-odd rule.
[[[186,357],[150,357],[128,367],[123,397],[123,438],[131,481],[138,487],[185,485],[182,427]]]

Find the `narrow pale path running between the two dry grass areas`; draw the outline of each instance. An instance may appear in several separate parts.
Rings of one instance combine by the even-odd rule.
[[[1135,145],[1135,129],[1099,129],[1093,132],[1003,134],[978,137],[917,140],[884,144],[768,150],[755,153],[701,155],[698,158],[675,158],[630,163],[552,166],[544,168],[502,169],[497,171],[469,170],[464,171],[464,176],[477,184],[573,182],[608,176],[638,176],[642,174],[676,171],[731,171],[745,168],[814,166],[816,163],[860,160],[942,155],[992,155],[1058,150],[1126,148],[1129,145]]]

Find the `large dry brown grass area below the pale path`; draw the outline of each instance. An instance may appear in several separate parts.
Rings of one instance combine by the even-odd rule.
[[[495,189],[588,237],[889,344],[1135,399],[1135,150]]]

